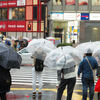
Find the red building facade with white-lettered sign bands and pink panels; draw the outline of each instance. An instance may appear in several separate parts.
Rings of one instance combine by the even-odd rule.
[[[10,37],[43,38],[47,33],[43,0],[0,0],[0,32]]]

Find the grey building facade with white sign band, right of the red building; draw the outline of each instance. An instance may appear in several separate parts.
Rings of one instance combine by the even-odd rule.
[[[51,0],[50,35],[62,42],[100,40],[100,0]]]

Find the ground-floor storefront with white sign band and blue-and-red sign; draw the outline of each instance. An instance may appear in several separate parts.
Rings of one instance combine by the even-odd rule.
[[[62,42],[100,40],[100,13],[51,13],[52,36],[58,33]],[[60,31],[62,29],[62,31]]]

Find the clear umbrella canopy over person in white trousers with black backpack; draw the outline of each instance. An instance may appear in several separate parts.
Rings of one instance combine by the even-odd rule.
[[[44,60],[46,55],[55,48],[54,44],[46,39],[33,39],[27,46],[27,50],[33,57],[41,60]]]

